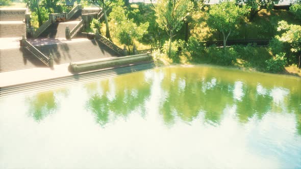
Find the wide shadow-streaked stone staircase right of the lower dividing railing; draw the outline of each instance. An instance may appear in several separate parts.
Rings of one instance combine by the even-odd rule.
[[[46,56],[52,53],[54,65],[121,57],[119,53],[97,40],[40,45],[35,47]]]

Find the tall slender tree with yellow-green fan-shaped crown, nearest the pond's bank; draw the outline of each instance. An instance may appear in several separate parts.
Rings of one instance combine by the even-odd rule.
[[[193,3],[188,0],[159,0],[154,5],[159,27],[169,36],[169,57],[171,55],[171,42],[175,32],[183,25],[184,18],[189,15]]]

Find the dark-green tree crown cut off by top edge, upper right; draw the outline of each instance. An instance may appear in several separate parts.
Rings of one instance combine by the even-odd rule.
[[[244,4],[250,9],[250,19],[261,11],[262,9],[272,9],[275,4],[278,4],[280,0],[236,0],[238,4]]]

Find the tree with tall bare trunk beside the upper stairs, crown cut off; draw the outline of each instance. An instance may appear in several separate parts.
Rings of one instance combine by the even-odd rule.
[[[99,9],[101,9],[104,12],[105,23],[106,23],[106,37],[110,39],[110,41],[112,41],[107,12],[114,5],[118,4],[118,0],[89,0],[89,2],[96,5]]]

